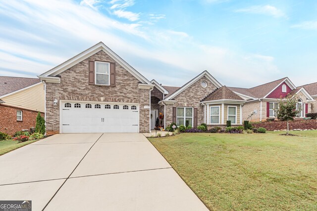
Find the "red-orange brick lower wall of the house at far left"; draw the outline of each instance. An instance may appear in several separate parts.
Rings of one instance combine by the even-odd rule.
[[[22,111],[22,121],[16,120],[16,111]],[[41,113],[44,116],[44,113]],[[17,107],[5,106],[0,104],[0,131],[13,135],[22,129],[30,130],[36,125],[37,111],[21,109]]]

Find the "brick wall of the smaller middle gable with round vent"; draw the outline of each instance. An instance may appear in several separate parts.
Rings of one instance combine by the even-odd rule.
[[[207,82],[207,87],[203,88],[201,82]],[[211,92],[216,89],[216,86],[211,83],[205,76],[199,79],[196,83],[192,84],[184,91],[179,93],[174,99],[176,103],[174,105],[166,105],[166,126],[172,123],[172,108],[173,107],[193,107],[197,108],[197,124],[204,123],[204,106],[201,105],[201,100],[207,97]],[[164,111],[164,108],[162,108]]]

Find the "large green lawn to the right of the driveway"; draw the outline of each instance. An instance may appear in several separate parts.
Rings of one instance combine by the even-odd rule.
[[[317,131],[149,138],[210,210],[317,210]]]

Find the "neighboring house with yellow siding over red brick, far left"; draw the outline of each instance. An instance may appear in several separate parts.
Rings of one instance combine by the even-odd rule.
[[[0,76],[0,131],[14,134],[36,125],[44,115],[44,84],[40,79]]]

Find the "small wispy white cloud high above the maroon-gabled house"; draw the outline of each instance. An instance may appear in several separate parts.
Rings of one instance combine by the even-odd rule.
[[[275,6],[271,5],[256,5],[256,6],[251,6],[243,9],[238,9],[236,12],[245,12],[245,13],[252,13],[252,14],[263,14],[263,15],[269,15],[273,16],[274,18],[279,18],[279,17],[286,17],[285,13],[276,8]]]

